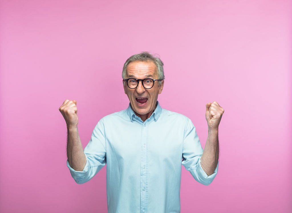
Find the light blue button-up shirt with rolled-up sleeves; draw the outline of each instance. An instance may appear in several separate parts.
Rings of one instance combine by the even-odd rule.
[[[84,148],[83,171],[67,167],[76,183],[85,183],[106,167],[109,213],[180,212],[182,165],[196,181],[209,185],[218,172],[201,167],[203,148],[192,121],[161,108],[143,122],[131,103],[102,117]]]

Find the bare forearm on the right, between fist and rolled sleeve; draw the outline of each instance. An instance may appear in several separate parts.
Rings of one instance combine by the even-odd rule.
[[[219,158],[218,129],[208,129],[208,138],[201,157],[201,166],[209,176],[214,173]]]

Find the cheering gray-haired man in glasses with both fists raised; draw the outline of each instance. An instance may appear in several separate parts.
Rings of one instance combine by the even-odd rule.
[[[218,172],[218,125],[223,108],[206,104],[208,138],[202,149],[192,121],[161,108],[163,62],[148,52],[128,58],[123,72],[128,108],[102,117],[83,150],[76,101],[59,108],[68,129],[67,167],[85,183],[107,164],[108,212],[180,212],[181,165],[209,185]]]

